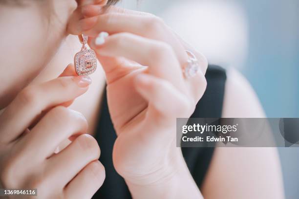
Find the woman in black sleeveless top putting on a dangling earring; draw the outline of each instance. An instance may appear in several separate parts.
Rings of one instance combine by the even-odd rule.
[[[1,0],[1,187],[43,199],[283,198],[275,149],[175,147],[177,117],[264,117],[248,83],[206,73],[205,57],[160,19],[106,10],[113,1]],[[104,69],[92,84],[65,64],[82,33]],[[186,50],[200,66],[193,77]]]

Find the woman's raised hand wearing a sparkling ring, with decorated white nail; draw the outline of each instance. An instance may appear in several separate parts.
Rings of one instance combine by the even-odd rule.
[[[91,17],[97,9],[103,12],[96,5],[82,10]],[[107,75],[108,106],[118,134],[113,150],[117,172],[131,192],[140,192],[139,185],[170,183],[179,175],[180,180],[192,180],[176,148],[176,118],[190,117],[205,91],[205,57],[150,14],[110,7],[85,34],[96,37],[102,31],[110,34],[106,42],[97,45],[93,39],[89,45]],[[183,75],[185,50],[192,51],[201,66],[190,79]],[[138,198],[136,192],[132,195]]]

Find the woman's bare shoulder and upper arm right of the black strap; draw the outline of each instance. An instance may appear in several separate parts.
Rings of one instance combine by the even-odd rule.
[[[222,117],[265,117],[249,82],[233,69],[226,76]],[[207,198],[283,198],[277,149],[215,148],[202,193]]]

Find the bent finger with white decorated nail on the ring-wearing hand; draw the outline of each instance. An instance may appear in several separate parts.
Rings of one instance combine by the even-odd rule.
[[[96,45],[93,40],[90,45],[98,55],[125,57],[149,66],[150,74],[170,81],[177,88],[184,88],[182,68],[171,46],[166,43],[130,33],[119,33],[107,37],[104,44]]]

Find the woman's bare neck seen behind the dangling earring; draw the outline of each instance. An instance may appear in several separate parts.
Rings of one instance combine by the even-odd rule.
[[[82,44],[79,42],[77,36],[68,36],[52,61],[32,83],[41,83],[57,78],[63,72],[64,68],[74,61],[74,55],[81,50],[81,47]],[[90,77],[92,84],[89,86],[88,91],[78,97],[70,106],[70,109],[79,111],[85,115],[89,126],[88,133],[92,134],[96,127],[95,124],[100,111],[99,105],[106,83],[105,73],[99,62],[97,70]]]

